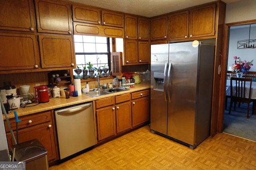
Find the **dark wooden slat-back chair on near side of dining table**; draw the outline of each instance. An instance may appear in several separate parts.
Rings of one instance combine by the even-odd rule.
[[[233,85],[234,84],[234,85]],[[245,85],[249,84],[249,88],[245,88]],[[249,90],[249,92],[248,92]],[[255,102],[251,99],[252,79],[251,78],[230,78],[230,106],[228,114],[230,115],[231,107],[234,103],[234,110],[236,110],[236,103],[246,103],[247,106],[247,119],[249,118],[250,103],[253,102],[252,114],[254,113]],[[248,94],[248,97],[246,96]]]

